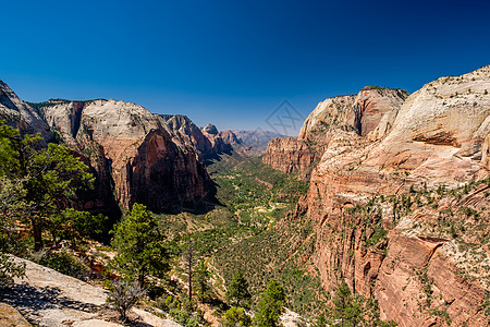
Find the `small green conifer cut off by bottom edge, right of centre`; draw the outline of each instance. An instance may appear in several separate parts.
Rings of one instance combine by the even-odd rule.
[[[271,280],[260,294],[254,318],[255,325],[258,327],[280,326],[279,317],[283,313],[285,300],[284,288],[275,279]]]

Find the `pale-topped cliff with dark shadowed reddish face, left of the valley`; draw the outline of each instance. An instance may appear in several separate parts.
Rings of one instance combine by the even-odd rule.
[[[201,140],[192,134],[192,122],[173,131],[164,117],[115,100],[52,100],[39,110],[91,164],[105,190],[100,192],[114,190],[126,208],[140,202],[154,211],[175,210],[212,192],[193,147]]]

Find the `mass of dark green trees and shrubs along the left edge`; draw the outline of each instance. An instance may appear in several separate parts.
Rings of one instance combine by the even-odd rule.
[[[61,240],[75,245],[100,231],[105,217],[75,209],[76,191],[90,189],[94,177],[69,148],[45,144],[39,135],[21,135],[0,123],[0,254],[2,279],[20,277],[23,268],[3,253],[27,256],[72,272],[78,261],[53,251]],[[49,246],[49,251],[45,246]]]

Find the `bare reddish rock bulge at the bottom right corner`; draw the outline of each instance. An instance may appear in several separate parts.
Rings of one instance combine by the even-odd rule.
[[[444,254],[445,242],[411,238],[397,230],[390,234],[375,287],[383,318],[407,327],[444,326],[449,319],[448,325],[486,326],[483,289],[462,277]]]

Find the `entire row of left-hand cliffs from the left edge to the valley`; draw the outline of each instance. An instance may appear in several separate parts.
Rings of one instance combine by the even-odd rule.
[[[79,192],[78,207],[108,216],[138,202],[151,210],[206,209],[215,185],[205,162],[231,152],[231,131],[203,130],[187,117],[154,114],[115,100],[22,101],[2,82],[0,114],[23,134],[61,142],[89,166],[95,191]],[[197,204],[197,205],[196,205]]]

